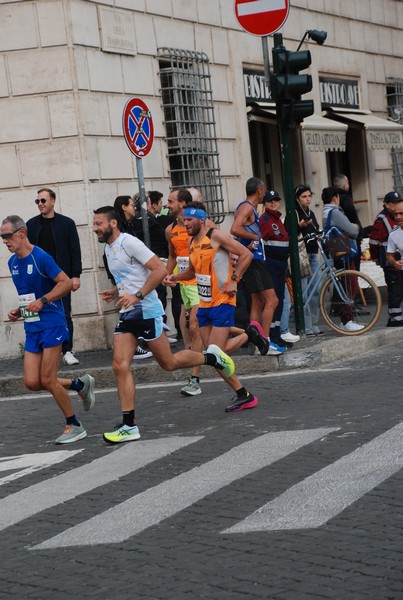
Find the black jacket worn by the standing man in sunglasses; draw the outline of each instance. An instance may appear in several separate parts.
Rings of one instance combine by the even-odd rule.
[[[31,244],[39,246],[39,233],[42,228],[42,215],[27,221],[28,239]],[[52,223],[56,256],[53,258],[69,277],[80,277],[82,273],[80,240],[73,219],[55,213]]]

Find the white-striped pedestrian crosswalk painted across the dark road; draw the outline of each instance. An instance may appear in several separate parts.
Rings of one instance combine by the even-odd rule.
[[[308,444],[327,439],[337,431],[337,427],[320,427],[260,435],[83,522],[79,522],[77,516],[75,525],[31,549],[124,543],[223,487],[242,481],[244,477],[301,451]],[[291,486],[232,527],[217,531],[217,535],[320,527],[403,467],[402,434],[403,423],[400,423]],[[0,531],[205,441],[203,436],[139,441],[119,447],[61,475],[44,479],[0,500]],[[77,452],[80,450],[0,459],[0,485],[6,478],[22,477],[33,470],[67,460]],[[10,470],[13,470],[11,474]],[[3,478],[2,472],[5,473]]]

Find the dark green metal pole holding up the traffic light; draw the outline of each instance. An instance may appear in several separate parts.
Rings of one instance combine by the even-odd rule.
[[[274,34],[274,47],[283,46],[283,36],[281,33]],[[282,102],[277,101],[276,105],[277,124],[281,145],[281,163],[283,170],[283,186],[285,194],[285,206],[287,214],[288,235],[290,237],[290,262],[291,262],[291,280],[292,291],[294,295],[294,314],[297,333],[305,333],[304,303],[302,299],[301,271],[299,268],[298,253],[298,229],[297,217],[295,212],[294,184],[292,174],[292,152],[291,152],[291,127],[285,125],[281,119]]]

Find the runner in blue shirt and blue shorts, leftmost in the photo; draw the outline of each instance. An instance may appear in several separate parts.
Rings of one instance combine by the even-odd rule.
[[[72,289],[72,281],[54,259],[30,243],[25,222],[17,215],[6,217],[1,238],[13,253],[8,266],[18,292],[19,306],[8,313],[10,321],[24,319],[24,383],[29,390],[47,390],[66,418],[66,427],[56,444],[70,444],[87,436],[74,412],[67,389],[78,392],[84,410],[95,402],[94,378],[58,379],[62,344],[69,337],[61,298]]]

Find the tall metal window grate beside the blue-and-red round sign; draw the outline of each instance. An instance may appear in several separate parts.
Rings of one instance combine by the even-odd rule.
[[[174,187],[197,187],[216,223],[224,200],[209,59],[203,52],[158,48],[161,97]]]

